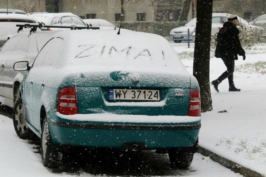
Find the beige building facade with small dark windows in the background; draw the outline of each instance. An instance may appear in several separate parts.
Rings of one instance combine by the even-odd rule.
[[[8,2],[8,3],[7,3]],[[30,12],[72,12],[81,18],[120,21],[187,21],[196,15],[196,0],[0,0],[0,8]],[[213,12],[227,12],[251,21],[266,13],[266,0],[219,0]],[[182,18],[183,16],[183,18]],[[186,17],[184,19],[184,16]]]

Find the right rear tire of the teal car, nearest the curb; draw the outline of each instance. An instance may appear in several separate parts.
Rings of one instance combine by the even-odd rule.
[[[171,150],[168,155],[173,167],[187,168],[192,163],[194,153],[185,153]]]

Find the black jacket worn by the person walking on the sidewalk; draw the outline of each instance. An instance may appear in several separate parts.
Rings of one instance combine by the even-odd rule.
[[[216,58],[237,60],[237,54],[244,55],[240,41],[239,30],[231,22],[225,22],[217,35],[217,46],[215,50]]]

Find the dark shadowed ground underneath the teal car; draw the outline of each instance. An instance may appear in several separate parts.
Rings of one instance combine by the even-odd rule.
[[[41,141],[38,137],[28,140],[34,152],[41,158]],[[48,166],[52,173],[68,175],[107,175],[107,176],[176,176],[190,171],[172,169],[168,155],[155,151],[129,152],[122,150],[70,148],[63,153],[56,165]]]

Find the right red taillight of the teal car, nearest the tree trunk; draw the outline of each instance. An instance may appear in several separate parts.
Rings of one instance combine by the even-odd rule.
[[[200,116],[200,93],[199,90],[190,89],[190,101],[188,116]]]

